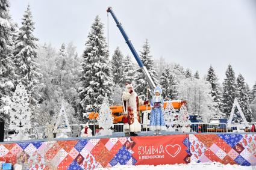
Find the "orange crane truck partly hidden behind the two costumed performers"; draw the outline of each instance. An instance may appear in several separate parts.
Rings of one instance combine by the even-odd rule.
[[[172,102],[172,106],[174,109],[180,109],[182,105],[186,105],[187,106],[187,102],[185,100],[172,100],[170,101]],[[164,109],[167,106],[167,102],[164,102]],[[119,106],[110,106],[110,109],[112,111],[112,115],[114,117],[113,123],[121,123],[122,122],[122,118],[123,118],[123,106],[119,105]],[[139,108],[140,111],[146,111],[147,110],[147,106],[146,105],[142,105]],[[148,106],[148,111],[151,110],[151,107]],[[98,113],[95,112],[91,112],[89,114],[89,119],[93,120],[96,119],[98,117]]]

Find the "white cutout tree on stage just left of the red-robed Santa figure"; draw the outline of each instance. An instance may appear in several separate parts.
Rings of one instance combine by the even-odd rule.
[[[99,108],[99,116],[97,118],[99,128],[102,127],[102,130],[99,131],[99,135],[112,135],[113,130],[110,128],[114,127],[113,120],[114,118],[108,103],[108,98],[105,97],[101,107]]]

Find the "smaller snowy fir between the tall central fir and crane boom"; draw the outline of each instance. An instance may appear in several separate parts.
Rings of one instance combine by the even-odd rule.
[[[119,47],[116,47],[111,59],[113,82],[116,85],[124,85],[123,80],[123,55]]]

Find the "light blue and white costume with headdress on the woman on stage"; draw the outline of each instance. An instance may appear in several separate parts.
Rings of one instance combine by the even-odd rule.
[[[163,116],[163,97],[161,96],[162,90],[160,87],[156,87],[154,94],[158,92],[160,96],[154,96],[150,102],[151,105],[151,117],[150,117],[150,130],[166,130]]]

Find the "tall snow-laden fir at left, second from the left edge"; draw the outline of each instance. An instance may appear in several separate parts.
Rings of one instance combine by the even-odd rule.
[[[17,67],[16,73],[28,90],[28,94],[31,96],[30,103],[33,106],[37,103],[36,87],[40,83],[40,77],[42,77],[42,74],[39,73],[39,64],[35,61],[38,39],[33,35],[34,29],[30,5],[28,5],[15,41],[14,62]]]

